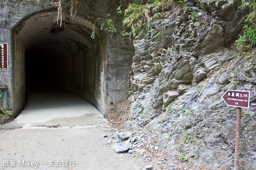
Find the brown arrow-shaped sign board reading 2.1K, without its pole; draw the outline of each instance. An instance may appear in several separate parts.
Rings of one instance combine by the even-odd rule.
[[[250,92],[227,90],[222,96],[222,99],[226,102],[228,106],[249,108]]]

